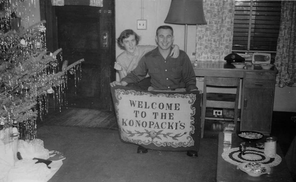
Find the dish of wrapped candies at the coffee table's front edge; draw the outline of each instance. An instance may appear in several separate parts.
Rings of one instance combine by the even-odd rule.
[[[239,164],[238,168],[253,177],[258,177],[270,172],[269,166],[259,162],[244,162]]]

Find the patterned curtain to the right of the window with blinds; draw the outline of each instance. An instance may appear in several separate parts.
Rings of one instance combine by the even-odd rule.
[[[282,1],[275,65],[276,85],[296,87],[296,1]]]

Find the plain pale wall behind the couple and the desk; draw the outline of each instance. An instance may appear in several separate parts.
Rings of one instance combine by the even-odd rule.
[[[155,31],[158,26],[165,25],[164,20],[168,14],[171,0],[115,0],[115,29],[116,37],[125,29],[133,29],[141,36],[140,45],[156,45]],[[141,11],[143,7],[143,11]],[[137,20],[147,20],[146,30],[137,30]],[[170,25],[174,29],[174,43],[184,50],[184,25]],[[188,25],[187,54],[195,60],[196,26]],[[123,50],[116,46],[116,56]],[[197,82],[202,89],[203,82]],[[296,112],[296,87],[275,87],[274,111]]]

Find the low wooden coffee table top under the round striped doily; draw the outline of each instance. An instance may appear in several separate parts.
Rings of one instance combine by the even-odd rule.
[[[259,177],[249,176],[247,173],[238,169],[236,165],[230,164],[225,161],[221,154],[224,149],[224,134],[219,133],[218,139],[218,157],[217,157],[217,182],[293,182],[289,169],[287,167],[283,153],[280,150],[279,144],[277,144],[277,154],[282,158],[282,161],[277,166],[271,167],[270,174],[264,174]],[[243,142],[236,134],[232,134],[231,148],[238,147]],[[255,145],[255,144],[254,144]]]

